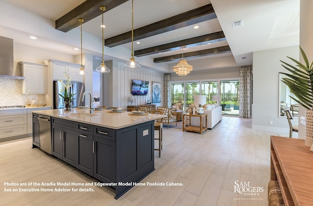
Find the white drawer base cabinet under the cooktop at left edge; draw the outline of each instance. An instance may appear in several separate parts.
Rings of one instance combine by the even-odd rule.
[[[26,113],[26,109],[0,111],[0,138],[26,134]]]

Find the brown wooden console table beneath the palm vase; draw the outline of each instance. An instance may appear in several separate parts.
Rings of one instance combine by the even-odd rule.
[[[278,180],[285,206],[313,205],[313,152],[304,140],[270,137],[270,180]]]

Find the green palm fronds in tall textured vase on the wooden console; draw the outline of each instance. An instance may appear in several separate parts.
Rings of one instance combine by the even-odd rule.
[[[305,145],[311,147],[313,143],[313,62],[309,62],[307,55],[300,47],[300,52],[304,64],[288,57],[296,65],[282,62],[282,66],[290,73],[280,72],[288,78],[283,78],[284,82],[298,99],[291,97],[295,102],[306,108]]]

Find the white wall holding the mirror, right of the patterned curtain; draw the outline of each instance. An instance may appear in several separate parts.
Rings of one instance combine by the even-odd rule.
[[[289,131],[287,119],[278,117],[279,75],[287,71],[280,60],[290,62],[286,56],[299,59],[299,47],[290,46],[253,52],[253,104],[252,128]],[[273,124],[269,125],[269,121]],[[297,124],[295,119],[294,124]],[[285,129],[284,129],[285,128]]]

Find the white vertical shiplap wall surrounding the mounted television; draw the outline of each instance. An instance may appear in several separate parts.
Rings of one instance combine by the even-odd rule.
[[[118,88],[115,91],[113,87],[113,96],[115,96],[115,103],[118,107],[127,108],[131,105],[131,100],[136,99],[136,104],[145,104],[149,99],[152,101],[152,82],[160,82],[162,85],[161,91],[163,91],[164,74],[161,72],[152,71],[145,68],[128,69],[125,67],[125,63],[118,63],[118,71],[113,76],[115,81],[118,81]],[[131,87],[133,80],[149,81],[148,95],[132,95]],[[116,84],[115,84],[116,85]],[[161,94],[161,103],[156,103],[156,106],[163,105],[163,93]],[[134,102],[133,102],[134,104]],[[113,105],[114,106],[114,105]]]

